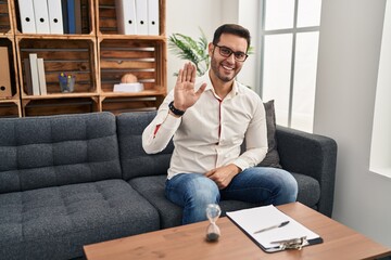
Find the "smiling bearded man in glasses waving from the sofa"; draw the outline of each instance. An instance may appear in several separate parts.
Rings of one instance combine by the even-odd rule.
[[[256,167],[267,153],[265,108],[255,92],[235,79],[249,47],[248,29],[218,27],[209,43],[209,72],[195,79],[195,67],[185,64],[143,131],[149,154],[163,151],[174,136],[165,195],[184,208],[182,224],[205,220],[206,206],[223,199],[258,205],[297,199],[298,184],[289,172]]]

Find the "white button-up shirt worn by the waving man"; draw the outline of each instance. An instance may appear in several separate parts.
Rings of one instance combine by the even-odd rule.
[[[168,104],[174,100],[171,91],[142,133],[148,154],[163,151],[174,136],[168,179],[178,173],[205,173],[229,164],[244,170],[266,156],[266,117],[261,98],[235,81],[231,92],[220,100],[207,73],[197,78],[195,91],[203,82],[207,83],[204,93],[179,118],[168,114]],[[240,154],[244,138],[247,151]]]

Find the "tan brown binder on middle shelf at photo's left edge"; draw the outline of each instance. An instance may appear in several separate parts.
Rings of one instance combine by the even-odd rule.
[[[11,70],[7,47],[0,47],[0,98],[11,98]]]

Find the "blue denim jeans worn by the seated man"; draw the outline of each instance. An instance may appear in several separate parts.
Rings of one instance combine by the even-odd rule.
[[[166,181],[165,195],[184,208],[182,224],[188,224],[206,220],[207,204],[218,204],[220,199],[258,205],[295,202],[298,183],[288,171],[267,167],[243,170],[224,190],[201,173],[180,173]]]

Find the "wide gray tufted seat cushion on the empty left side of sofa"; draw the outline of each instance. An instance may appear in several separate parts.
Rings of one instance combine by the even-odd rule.
[[[0,194],[4,259],[70,259],[83,245],[159,230],[157,211],[123,180]]]

